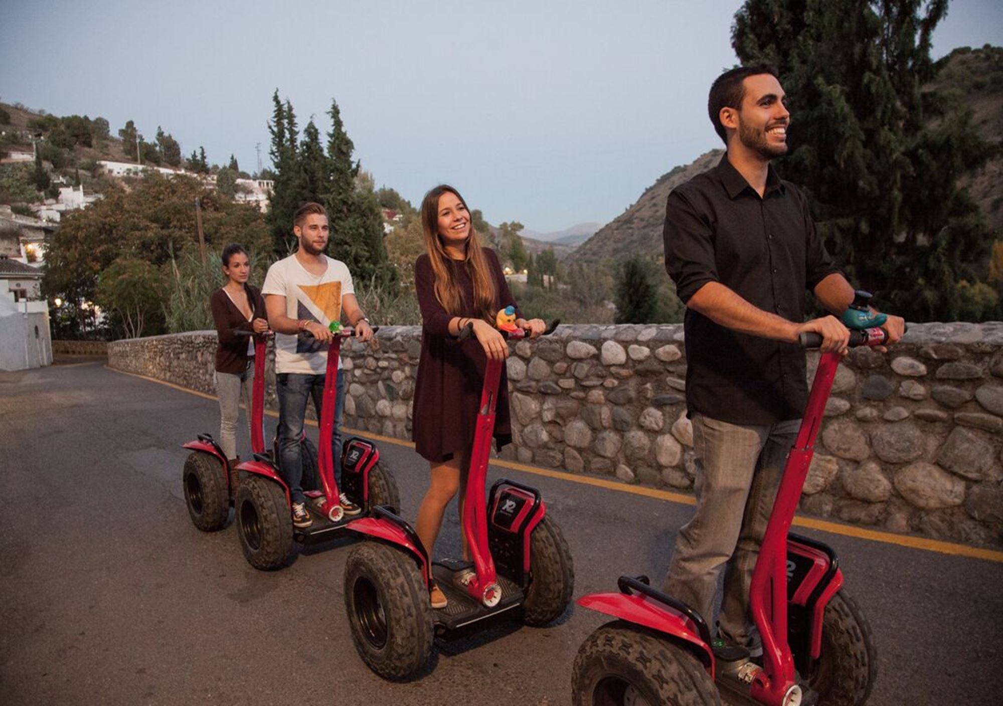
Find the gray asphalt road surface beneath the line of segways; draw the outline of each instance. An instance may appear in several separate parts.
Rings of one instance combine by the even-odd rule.
[[[349,542],[266,574],[245,562],[232,524],[193,526],[180,444],[215,433],[218,414],[214,400],[99,362],[0,373],[0,703],[570,702],[578,646],[605,622],[577,608],[550,628],[504,625],[441,644],[434,668],[407,684],[370,673],[344,614]],[[271,434],[275,420],[266,424]],[[427,465],[406,446],[380,450],[413,518]],[[622,573],[660,581],[691,511],[491,470],[503,474],[543,491],[575,557],[576,597],[615,590]],[[1000,703],[1003,564],[804,534],[837,549],[872,623],[871,704]],[[437,549],[458,548],[450,510]]]

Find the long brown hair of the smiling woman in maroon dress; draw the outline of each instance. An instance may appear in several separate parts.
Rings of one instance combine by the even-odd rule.
[[[448,185],[440,184],[429,190],[421,202],[421,230],[425,236],[425,252],[428,253],[432,273],[435,275],[435,299],[447,313],[459,316],[463,313],[459,285],[452,278],[451,258],[446,255],[445,249],[442,247],[442,239],[438,235],[438,200],[447,192],[459,199],[463,208],[466,209],[467,218],[469,218],[470,210],[466,207],[466,202],[463,201],[459,192]],[[473,229],[472,220],[470,221],[469,235],[466,238],[463,267],[466,268],[470,280],[473,282],[474,310],[485,321],[493,323],[495,314],[494,280],[487,270],[487,259],[480,247],[480,238]]]

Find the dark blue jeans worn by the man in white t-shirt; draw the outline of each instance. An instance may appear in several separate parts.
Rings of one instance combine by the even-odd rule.
[[[279,397],[279,463],[282,467],[282,477],[289,485],[289,496],[293,502],[306,501],[306,495],[303,494],[300,436],[303,434],[303,419],[307,413],[308,398],[313,398],[314,410],[317,412],[317,419],[320,419],[324,378],[324,375],[302,373],[279,373],[275,376],[276,393]],[[341,416],[345,409],[345,380],[341,370],[338,370],[337,385],[331,455],[334,458],[334,477],[340,482]],[[319,484],[319,477],[317,481]]]

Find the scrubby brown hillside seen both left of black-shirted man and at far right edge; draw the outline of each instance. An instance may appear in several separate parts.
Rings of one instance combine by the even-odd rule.
[[[955,49],[946,57],[932,87],[944,90],[948,105],[961,101],[972,109],[973,123],[992,148],[993,156],[986,166],[966,178],[964,184],[999,233],[1003,230],[1003,48]],[[568,261],[597,263],[621,260],[635,253],[661,257],[665,200],[669,193],[713,166],[722,153],[723,150],[714,149],[659,179],[637,203],[576,248]]]

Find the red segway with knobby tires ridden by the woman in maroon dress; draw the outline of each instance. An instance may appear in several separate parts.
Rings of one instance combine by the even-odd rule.
[[[554,322],[547,333],[556,326]],[[467,325],[460,339],[471,332]],[[524,338],[525,332],[517,329],[508,337]],[[354,548],[345,566],[352,641],[362,661],[385,679],[403,680],[420,671],[431,656],[435,636],[456,635],[520,608],[527,625],[546,625],[571,602],[571,552],[547,514],[540,491],[500,479],[491,485],[485,502],[503,365],[487,361],[470,453],[462,528],[473,562],[432,563],[414,530],[385,507],[350,525],[372,540]],[[475,576],[464,587],[457,579],[471,567]],[[433,610],[428,599],[432,578],[448,599],[439,610]]]

